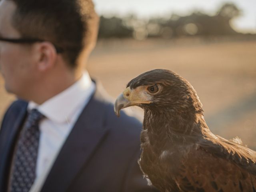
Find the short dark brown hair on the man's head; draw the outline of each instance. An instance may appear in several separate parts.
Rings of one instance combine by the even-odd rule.
[[[24,38],[40,38],[64,50],[72,67],[84,49],[96,42],[98,16],[92,0],[12,0],[12,25]]]

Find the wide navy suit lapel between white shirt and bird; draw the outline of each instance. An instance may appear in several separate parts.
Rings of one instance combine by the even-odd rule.
[[[41,192],[66,191],[92,152],[106,136],[105,108],[96,91],[81,113],[54,162]]]

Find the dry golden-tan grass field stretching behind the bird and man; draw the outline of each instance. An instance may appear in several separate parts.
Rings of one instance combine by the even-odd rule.
[[[256,150],[256,41],[100,40],[88,61],[92,78],[113,98],[154,68],[173,70],[194,86],[214,134],[239,136]],[[12,100],[0,78],[0,116]]]

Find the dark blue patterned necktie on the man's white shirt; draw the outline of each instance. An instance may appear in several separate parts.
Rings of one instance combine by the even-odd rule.
[[[28,192],[36,178],[36,160],[40,131],[38,124],[44,118],[38,110],[28,114],[18,139],[11,175],[11,192]]]

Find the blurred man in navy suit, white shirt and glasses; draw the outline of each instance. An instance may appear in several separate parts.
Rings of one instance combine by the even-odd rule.
[[[0,191],[153,191],[137,164],[141,124],[116,118],[84,66],[91,0],[2,0],[0,67],[18,98],[0,130]]]

